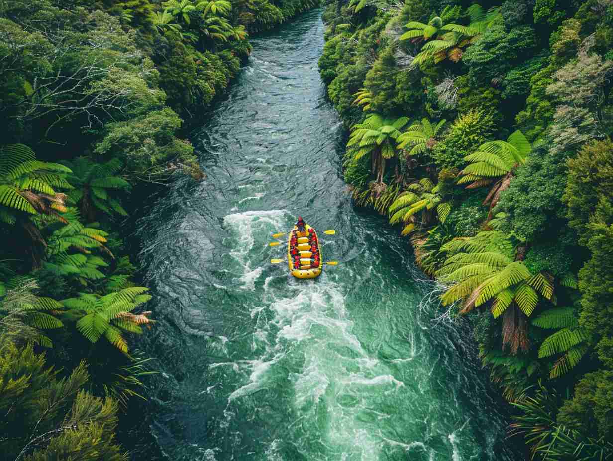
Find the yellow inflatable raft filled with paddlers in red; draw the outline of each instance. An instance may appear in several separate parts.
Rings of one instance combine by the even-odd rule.
[[[305,224],[305,230],[299,232],[294,226],[287,239],[289,272],[297,279],[314,279],[321,274],[321,261],[319,239],[314,228]]]

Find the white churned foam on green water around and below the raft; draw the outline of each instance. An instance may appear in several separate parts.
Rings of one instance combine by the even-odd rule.
[[[284,217],[283,210],[276,210],[230,214],[224,219],[233,235],[240,234],[233,241],[230,255],[242,263],[244,272],[240,279],[248,280],[251,290],[262,272],[251,269],[249,251],[256,236],[287,226]],[[375,420],[389,417],[370,408],[368,399],[371,395],[396,392],[404,383],[364,350],[352,331],[354,322],[350,320],[345,296],[337,283],[324,275],[317,283],[295,285],[291,296],[287,296],[286,286],[280,289],[270,285],[272,277],[267,277],[265,282],[262,305],[249,311],[251,318],[268,319],[258,321],[253,333],[253,348],[263,353],[258,359],[240,365],[249,370],[248,380],[230,393],[229,405],[240,405],[241,399],[267,388],[268,381],[283,372],[276,368],[284,367],[284,359],[299,353],[302,370],[288,376],[293,383],[296,413],[315,421],[323,405],[329,422],[320,428],[322,446],[332,447],[332,452],[346,459],[356,459],[357,452],[357,459],[377,459],[381,438],[373,435],[371,416],[360,415],[370,414]],[[330,350],[331,347],[346,353],[340,355]],[[364,392],[365,388],[373,390]]]

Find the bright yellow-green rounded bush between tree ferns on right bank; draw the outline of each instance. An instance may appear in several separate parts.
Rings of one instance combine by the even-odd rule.
[[[440,168],[461,168],[464,157],[482,144],[492,134],[493,123],[489,114],[471,111],[455,120],[443,133],[443,140],[436,144],[430,156]]]

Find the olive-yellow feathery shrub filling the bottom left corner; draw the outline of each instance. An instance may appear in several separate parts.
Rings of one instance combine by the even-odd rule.
[[[2,452],[10,459],[104,459],[128,457],[114,441],[117,404],[83,391],[88,380],[81,362],[64,378],[45,366],[31,345],[0,349]],[[14,411],[20,408],[25,411]]]

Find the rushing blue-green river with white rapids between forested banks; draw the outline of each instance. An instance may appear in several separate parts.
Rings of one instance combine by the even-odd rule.
[[[321,11],[253,39],[181,179],[138,222],[159,323],[151,432],[172,461],[516,460],[462,326],[422,303],[406,239],[352,208],[317,61]],[[302,214],[341,264],[289,277],[270,234]]]

